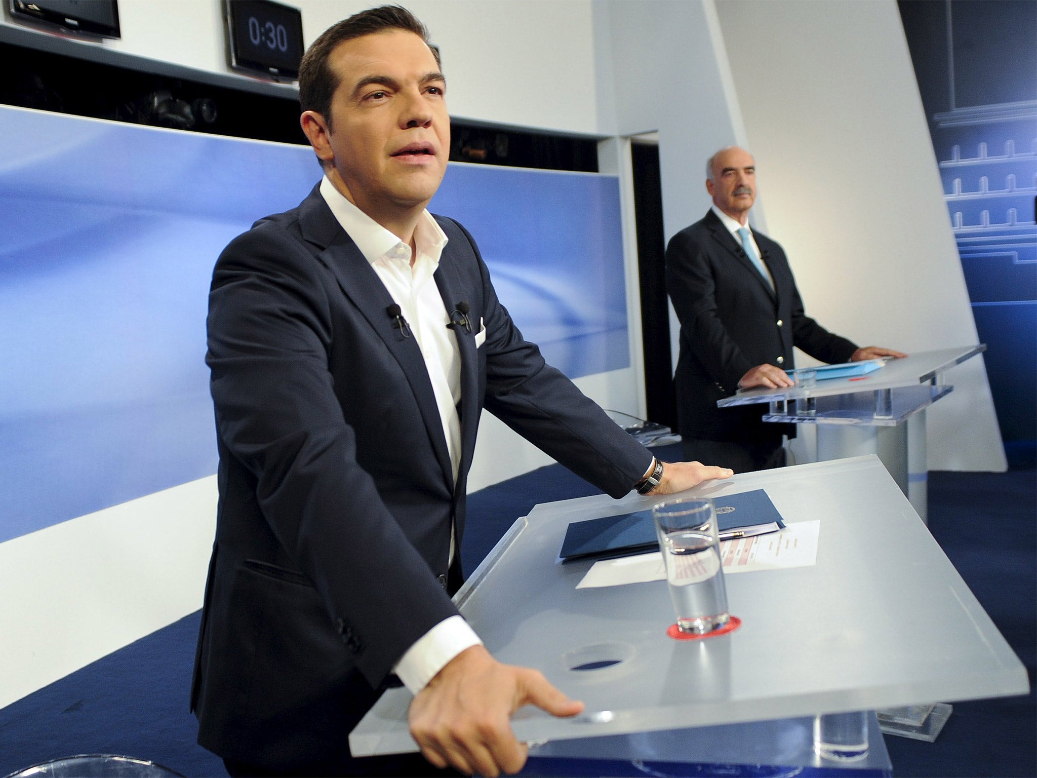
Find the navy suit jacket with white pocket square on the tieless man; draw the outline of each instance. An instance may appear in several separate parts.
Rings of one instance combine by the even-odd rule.
[[[436,283],[474,323],[455,328],[456,482],[418,344],[317,189],[217,261],[220,503],[191,704],[225,758],[334,771],[401,655],[456,613],[442,584],[483,407],[614,497],[651,462],[523,339],[464,227],[437,221]]]

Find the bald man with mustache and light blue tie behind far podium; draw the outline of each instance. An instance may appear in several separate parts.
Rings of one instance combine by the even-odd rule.
[[[782,436],[793,437],[795,425],[764,422],[765,405],[719,409],[717,400],[739,388],[791,386],[793,346],[830,363],[904,355],[860,349],[804,312],[785,252],[749,226],[752,155],[737,146],[713,155],[706,190],[712,207],[666,248],[666,286],[680,321],[674,382],[684,459],[735,472],[781,467]]]

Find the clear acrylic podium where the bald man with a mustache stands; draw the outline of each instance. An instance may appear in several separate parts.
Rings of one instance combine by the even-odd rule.
[[[943,383],[944,373],[984,351],[981,343],[920,352],[890,360],[864,377],[748,389],[718,400],[717,406],[768,402],[764,421],[816,424],[820,462],[876,454],[926,521],[925,410],[953,391]]]

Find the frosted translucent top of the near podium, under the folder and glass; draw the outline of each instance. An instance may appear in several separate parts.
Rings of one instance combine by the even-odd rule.
[[[527,742],[1025,694],[1026,669],[875,456],[739,474],[688,495],[764,489],[786,524],[819,520],[816,564],[726,577],[729,635],[675,641],[665,581],[577,589],[570,522],[649,507],[630,494],[538,505],[455,596],[502,662],[539,669],[586,710],[512,717]],[[620,660],[594,670],[586,663]],[[357,756],[416,751],[391,689],[349,735]]]

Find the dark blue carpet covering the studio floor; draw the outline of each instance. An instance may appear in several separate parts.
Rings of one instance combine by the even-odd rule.
[[[931,473],[929,525],[1026,664],[1032,687],[1037,472],[1027,464],[1000,474]],[[471,495],[465,568],[473,569],[534,504],[590,494],[596,494],[593,487],[552,466]],[[153,759],[191,778],[226,775],[223,763],[195,744],[197,725],[188,713],[197,631],[195,613],[0,710],[0,776],[78,753]],[[1035,733],[1031,692],[955,704],[936,743],[887,738],[887,746],[897,776],[1029,777],[1037,776]]]

